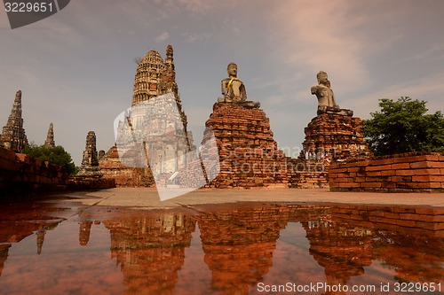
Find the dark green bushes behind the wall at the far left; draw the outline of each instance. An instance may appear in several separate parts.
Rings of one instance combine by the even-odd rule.
[[[76,167],[71,159],[71,155],[65,151],[63,146],[57,145],[54,148],[49,148],[44,145],[36,145],[34,143],[28,144],[28,146],[21,151],[27,155],[41,159],[43,161],[48,161],[51,164],[59,165],[65,168],[65,172],[68,175],[75,175]]]

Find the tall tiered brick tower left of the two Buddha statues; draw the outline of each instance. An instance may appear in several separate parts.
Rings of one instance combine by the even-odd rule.
[[[162,98],[168,94],[172,100]],[[177,112],[169,112],[171,109]],[[186,114],[178,96],[172,46],[168,45],[164,61],[159,52],[150,50],[139,60],[131,109],[124,114],[118,127],[119,134],[124,133],[124,128],[131,130],[129,137],[134,144],[145,144],[150,163],[140,163],[141,159],[136,159],[137,151],[118,151],[114,146],[100,157],[101,172],[105,178],[115,179],[117,186],[153,186],[153,172],[162,178],[158,181],[173,183],[171,175],[186,165],[181,156],[194,149],[191,133],[186,127]],[[147,159],[143,160],[147,162]]]

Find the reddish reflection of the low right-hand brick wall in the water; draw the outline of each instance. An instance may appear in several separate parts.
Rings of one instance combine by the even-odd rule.
[[[430,206],[350,206],[330,208],[332,225],[371,233],[371,245],[363,249],[371,260],[382,260],[406,282],[441,282],[444,269],[442,237],[444,209]],[[308,235],[307,235],[308,236]],[[332,248],[338,245],[335,241]],[[406,259],[408,258],[408,259]],[[326,268],[327,269],[327,268]]]

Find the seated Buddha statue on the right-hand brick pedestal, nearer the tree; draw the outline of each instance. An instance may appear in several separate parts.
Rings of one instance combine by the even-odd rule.
[[[321,71],[316,75],[318,85],[312,87],[312,94],[318,97],[318,115],[322,113],[334,113],[345,116],[353,116],[352,110],[341,109],[336,104],[333,90],[330,89],[330,82],[327,73]]]

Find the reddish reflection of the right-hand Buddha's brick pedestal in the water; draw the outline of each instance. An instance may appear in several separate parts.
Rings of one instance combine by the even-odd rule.
[[[310,254],[321,267],[329,285],[345,285],[352,276],[364,274],[364,266],[371,265],[373,233],[369,229],[347,226],[325,219],[302,222],[310,241]],[[329,292],[326,294],[345,294]]]

